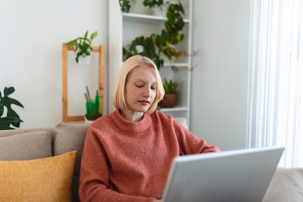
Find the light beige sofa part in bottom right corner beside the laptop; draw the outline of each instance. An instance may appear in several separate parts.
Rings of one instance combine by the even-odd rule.
[[[303,202],[303,168],[277,168],[262,202]]]

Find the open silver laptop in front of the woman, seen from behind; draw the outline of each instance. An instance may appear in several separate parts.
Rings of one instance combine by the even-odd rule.
[[[284,147],[264,147],[174,159],[163,202],[262,202]]]

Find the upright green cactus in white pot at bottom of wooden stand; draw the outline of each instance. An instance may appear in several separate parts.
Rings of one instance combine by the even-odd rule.
[[[89,121],[95,121],[97,118],[101,117],[102,114],[100,113],[100,96],[98,90],[96,90],[95,100],[91,99],[89,88],[86,86],[86,93],[84,93],[86,99],[86,114],[85,120],[87,123]]]

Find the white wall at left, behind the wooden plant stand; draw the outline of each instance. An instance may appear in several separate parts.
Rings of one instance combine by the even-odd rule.
[[[61,121],[62,43],[98,31],[92,45],[107,50],[107,7],[107,0],[0,0],[0,91],[15,87],[11,97],[24,105],[13,106],[24,121],[20,128]],[[73,57],[69,52],[69,115],[82,115],[85,86],[91,94],[98,88],[98,55],[91,66]]]

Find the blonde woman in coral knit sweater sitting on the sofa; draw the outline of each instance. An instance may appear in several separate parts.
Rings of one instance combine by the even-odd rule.
[[[176,156],[219,152],[155,110],[164,93],[152,60],[136,55],[123,63],[113,97],[116,110],[94,121],[87,132],[81,202],[160,201]]]

